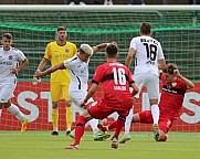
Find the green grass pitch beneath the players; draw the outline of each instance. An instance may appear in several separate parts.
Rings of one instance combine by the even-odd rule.
[[[78,150],[64,147],[73,139],[61,132],[59,137],[50,131],[23,135],[17,131],[0,131],[0,159],[199,159],[200,137],[198,134],[170,134],[168,141],[156,142],[151,135],[131,135],[131,140],[110,148],[110,141],[94,141],[88,132]]]

